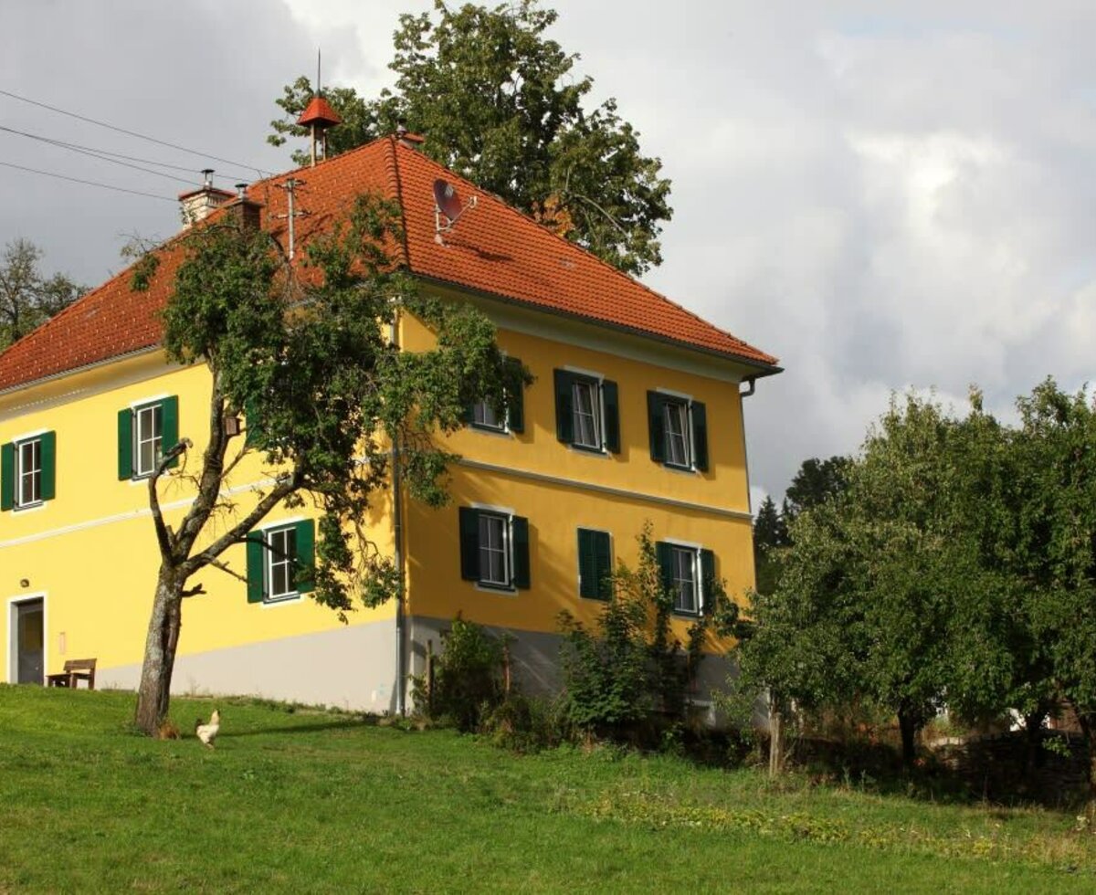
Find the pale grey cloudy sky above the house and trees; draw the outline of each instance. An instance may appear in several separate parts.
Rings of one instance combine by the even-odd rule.
[[[264,144],[315,69],[372,94],[429,0],[0,0],[0,127],[220,183],[288,167]],[[581,54],[673,181],[646,282],[781,358],[746,404],[756,497],[855,450],[894,389],[970,383],[1007,413],[1096,368],[1096,4],[557,0]],[[13,99],[220,157],[206,161]],[[96,284],[127,234],[168,236],[197,184],[0,130],[0,243]],[[130,163],[139,165],[139,161]],[[22,165],[135,190],[62,182]]]

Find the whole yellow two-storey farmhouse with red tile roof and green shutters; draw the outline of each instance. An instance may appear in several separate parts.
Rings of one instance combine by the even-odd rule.
[[[279,508],[261,531],[275,550],[231,548],[222,559],[239,577],[207,569],[192,582],[207,593],[185,601],[176,692],[398,711],[408,674],[457,612],[510,632],[518,678],[551,687],[559,612],[596,617],[601,573],[636,563],[647,521],[682,634],[705,611],[706,572],[730,595],[753,585],[742,400],[779,371],[776,358],[477,191],[416,144],[399,134],[246,196],[207,185],[182,198],[197,217],[239,206],[299,246],[355,195],[383,192],[401,209],[401,261],[421,290],[490,315],[536,380],[505,415],[471,409],[449,439],[461,458],[449,506],[389,496],[365,520],[402,562],[402,604],[343,623],[299,593],[275,558],[307,559],[315,523],[307,503]],[[290,177],[305,216],[287,216],[279,187]],[[452,227],[438,207],[450,203],[446,184],[465,209]],[[169,246],[148,290],[123,273],[0,355],[0,680],[39,684],[67,659],[95,657],[98,686],[136,687],[158,569],[146,479],[161,446],[208,428],[208,371],[171,365],[159,347],[157,311],[176,265]],[[415,349],[430,336],[404,318],[397,337]],[[169,521],[189,505],[179,473],[202,447],[164,479]],[[238,505],[259,478],[258,462],[237,470]],[[705,687],[718,686],[717,664],[705,665]]]

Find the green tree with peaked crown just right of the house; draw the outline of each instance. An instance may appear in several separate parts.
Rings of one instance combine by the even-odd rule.
[[[951,607],[974,566],[950,502],[955,428],[931,401],[892,402],[842,463],[844,489],[789,526],[780,581],[754,598],[740,650],[743,675],[778,708],[860,698],[893,711],[906,767],[941,703]]]

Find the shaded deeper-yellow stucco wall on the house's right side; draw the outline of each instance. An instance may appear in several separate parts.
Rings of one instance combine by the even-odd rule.
[[[415,348],[430,341],[413,320],[402,328],[401,339]],[[717,575],[726,581],[728,594],[741,599],[753,586],[754,567],[738,383],[658,366],[658,346],[650,348],[651,360],[644,363],[614,355],[612,344],[605,349],[582,347],[505,329],[499,330],[499,343],[536,377],[525,391],[524,432],[467,428],[450,439],[453,449],[470,461],[453,471],[450,505],[436,510],[409,506],[409,611],[448,618],[459,610],[481,623],[545,632],[559,629],[563,609],[591,622],[602,604],[579,596],[578,528],[610,532],[614,563],[623,560],[635,567],[636,536],[646,521],[655,540],[711,549]],[[669,360],[670,352],[665,354]],[[594,454],[557,440],[553,369],[562,367],[617,382],[619,454]],[[672,470],[651,460],[647,391],[660,388],[705,402],[707,472]],[[458,507],[471,505],[506,508],[528,518],[528,589],[499,592],[461,580]],[[678,635],[684,636],[687,624],[687,619],[675,619]]]

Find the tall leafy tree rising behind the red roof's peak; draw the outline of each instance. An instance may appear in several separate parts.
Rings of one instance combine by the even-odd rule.
[[[615,100],[593,111],[583,100],[589,76],[573,73],[578,55],[545,37],[556,21],[536,0],[488,9],[450,8],[404,14],[395,34],[393,92],[376,99],[352,88],[324,89],[344,124],[331,130],[336,154],[398,124],[426,135],[423,151],[534,216],[623,271],[641,274],[662,261],[658,241],[670,219],[670,181],[642,154],[639,134]],[[275,146],[304,136],[295,124],[311,100],[307,77],[276,100]],[[307,163],[305,153],[294,156]]]

